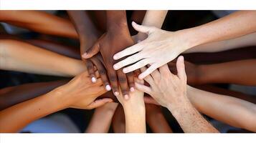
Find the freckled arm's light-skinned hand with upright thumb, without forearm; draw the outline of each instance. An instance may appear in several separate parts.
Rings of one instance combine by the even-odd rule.
[[[176,66],[177,75],[171,74],[165,64],[159,68],[159,71],[153,71],[151,76],[145,78],[151,87],[136,83],[136,89],[150,94],[163,107],[174,109],[186,99],[186,72],[183,56],[179,56]]]

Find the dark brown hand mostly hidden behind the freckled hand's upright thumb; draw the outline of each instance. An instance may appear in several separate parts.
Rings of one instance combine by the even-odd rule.
[[[188,84],[191,84],[191,85],[200,84],[201,83],[200,75],[202,73],[200,66],[193,64],[189,61],[185,61],[184,64],[186,67],[186,76],[187,76]],[[168,66],[171,73],[177,74],[176,60],[169,62]]]

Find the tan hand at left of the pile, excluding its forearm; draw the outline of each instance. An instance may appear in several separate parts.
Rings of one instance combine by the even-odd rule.
[[[109,98],[95,100],[106,91],[101,79],[93,84],[86,72],[77,75],[67,84],[54,89],[54,92],[63,97],[64,104],[67,104],[67,107],[78,109],[93,109],[108,102],[113,102]]]

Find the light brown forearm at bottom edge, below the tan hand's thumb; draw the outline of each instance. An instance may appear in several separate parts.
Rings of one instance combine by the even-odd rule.
[[[107,103],[95,109],[86,133],[108,133],[118,103]]]

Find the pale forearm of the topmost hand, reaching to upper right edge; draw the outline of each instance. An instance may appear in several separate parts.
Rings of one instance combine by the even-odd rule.
[[[248,25],[248,23],[250,24]],[[191,29],[184,29],[180,32],[184,35],[185,40],[188,41],[186,50],[213,41],[222,41],[252,34],[256,31],[255,29],[256,12],[237,11],[221,19]]]

